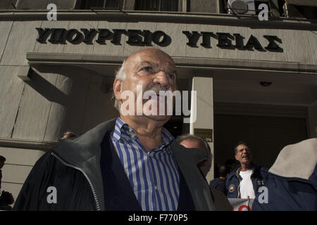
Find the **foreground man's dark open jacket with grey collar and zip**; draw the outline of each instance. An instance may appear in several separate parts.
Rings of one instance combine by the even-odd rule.
[[[109,120],[76,139],[64,139],[39,158],[27,176],[13,210],[108,210],[110,203],[104,199],[108,196],[104,193],[107,180],[102,179],[100,166],[101,143],[111,139],[115,123],[115,119]],[[112,141],[108,143],[110,150],[113,144]],[[206,158],[204,150],[189,150],[175,141],[170,143],[170,148],[195,210],[214,210],[209,185],[197,167],[197,162]],[[49,186],[56,188],[57,203],[48,203],[47,198],[51,198],[51,192],[46,192]]]

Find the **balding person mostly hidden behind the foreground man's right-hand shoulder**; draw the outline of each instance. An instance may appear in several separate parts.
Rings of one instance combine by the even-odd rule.
[[[211,160],[212,160],[211,148],[209,147],[209,144],[200,136],[196,136],[193,134],[185,134],[182,136],[178,136],[176,141],[178,141],[180,145],[185,146],[186,148],[201,148],[206,151],[207,153],[206,159],[199,162],[199,164],[197,165],[199,169],[201,170],[201,173],[204,174],[204,176],[206,177],[206,175],[209,173],[209,170],[211,169]],[[228,199],[225,197],[225,195],[221,191],[216,190],[215,188],[210,188],[210,189],[211,189],[211,198],[213,200],[216,210],[230,211],[231,205]]]

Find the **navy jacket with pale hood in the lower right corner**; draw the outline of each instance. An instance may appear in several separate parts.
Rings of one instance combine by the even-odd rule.
[[[266,191],[256,195],[252,211],[317,211],[317,139],[283,148],[265,186]]]

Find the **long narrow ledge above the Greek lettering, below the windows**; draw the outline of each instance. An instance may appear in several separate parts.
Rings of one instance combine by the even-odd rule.
[[[28,21],[47,20],[48,11],[0,11],[0,20]],[[180,13],[153,11],[101,11],[73,10],[58,11],[57,20],[107,20],[109,22],[156,22],[156,23],[189,23],[230,25],[267,29],[317,30],[317,20],[301,18],[271,17],[268,21],[260,21],[254,15],[230,15],[214,13]]]

